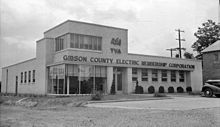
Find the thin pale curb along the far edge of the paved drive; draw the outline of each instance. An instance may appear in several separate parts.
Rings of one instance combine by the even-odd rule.
[[[147,101],[147,100],[165,100],[173,99],[172,97],[155,97],[155,98],[143,98],[143,99],[121,99],[121,100],[106,100],[106,101],[88,101],[91,103],[111,103],[111,102],[126,102],[126,101]]]

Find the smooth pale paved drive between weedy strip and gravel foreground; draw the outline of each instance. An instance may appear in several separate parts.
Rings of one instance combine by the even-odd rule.
[[[88,107],[126,108],[126,109],[160,109],[160,110],[190,110],[199,108],[220,107],[220,98],[205,98],[197,96],[173,97],[165,100],[127,101],[111,103],[92,103]]]

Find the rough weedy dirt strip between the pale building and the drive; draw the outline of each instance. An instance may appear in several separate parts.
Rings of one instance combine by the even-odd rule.
[[[104,95],[101,101],[111,100],[135,100],[135,99],[152,99],[153,94],[140,95]],[[44,108],[55,106],[80,107],[84,106],[91,100],[91,96],[1,96],[0,102],[3,105],[17,105],[28,108]],[[98,101],[97,101],[98,102]]]

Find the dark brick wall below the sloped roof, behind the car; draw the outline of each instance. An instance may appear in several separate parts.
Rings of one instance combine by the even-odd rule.
[[[218,61],[215,61],[218,54]],[[220,51],[203,54],[203,82],[208,79],[220,79]]]

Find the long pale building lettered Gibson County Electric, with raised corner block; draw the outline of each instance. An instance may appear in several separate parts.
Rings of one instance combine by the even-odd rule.
[[[128,53],[128,30],[68,20],[44,32],[36,58],[4,67],[3,93],[129,94],[153,86],[201,91],[201,61]]]

